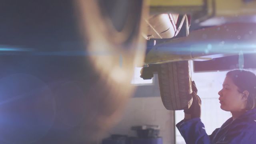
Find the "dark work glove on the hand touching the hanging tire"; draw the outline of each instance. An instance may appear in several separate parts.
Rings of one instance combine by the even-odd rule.
[[[192,95],[193,101],[190,108],[184,110],[185,120],[201,117],[201,99],[197,95],[197,88],[194,81],[192,81],[192,93],[190,95]]]

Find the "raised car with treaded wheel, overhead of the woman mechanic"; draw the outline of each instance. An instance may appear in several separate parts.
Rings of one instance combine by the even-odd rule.
[[[166,109],[190,107],[191,70],[188,60],[193,60],[196,68],[201,70],[224,70],[223,61],[237,58],[233,63],[239,64],[225,68],[229,70],[244,68],[244,58],[253,56],[256,48],[255,1],[150,2],[150,14],[153,16],[147,21],[148,43],[141,77],[150,79],[154,72],[158,73]],[[151,20],[153,18],[158,21]],[[157,34],[152,34],[152,31]],[[219,60],[222,62],[217,64]],[[215,68],[211,69],[213,61]]]

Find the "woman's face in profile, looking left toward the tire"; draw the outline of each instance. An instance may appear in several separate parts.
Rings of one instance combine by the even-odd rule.
[[[226,76],[220,95],[220,108],[229,112],[240,112],[246,106],[246,100],[242,93],[238,92],[238,87],[229,76]]]

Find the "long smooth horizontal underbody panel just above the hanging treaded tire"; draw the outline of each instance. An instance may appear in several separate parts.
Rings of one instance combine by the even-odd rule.
[[[156,44],[146,55],[146,64],[212,58],[255,52],[256,24],[239,23],[203,28]]]

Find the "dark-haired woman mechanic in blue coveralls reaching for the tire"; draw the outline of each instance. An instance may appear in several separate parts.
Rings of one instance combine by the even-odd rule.
[[[176,125],[187,144],[256,144],[255,74],[232,70],[222,86],[218,92],[220,108],[231,112],[232,117],[208,136],[200,120],[201,100],[192,82],[192,105],[184,110],[184,120]]]

